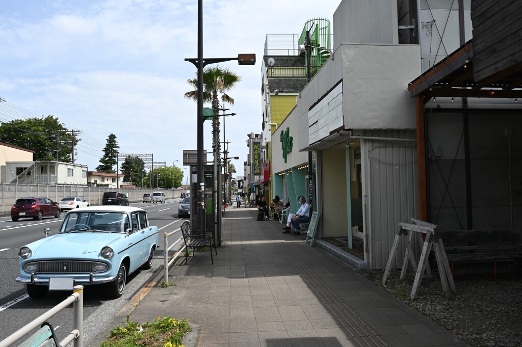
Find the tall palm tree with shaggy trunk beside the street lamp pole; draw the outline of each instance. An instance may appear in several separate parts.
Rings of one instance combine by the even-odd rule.
[[[221,94],[221,102],[234,104],[234,99],[226,92],[232,89],[237,82],[241,80],[228,68],[220,66],[206,67],[203,70],[203,102],[211,102],[214,114],[218,114],[219,95]],[[197,77],[188,79],[187,83],[195,88],[195,90],[185,93],[185,98],[197,101]],[[221,142],[219,140],[219,117],[212,117],[212,143],[213,150],[216,153],[221,152]]]

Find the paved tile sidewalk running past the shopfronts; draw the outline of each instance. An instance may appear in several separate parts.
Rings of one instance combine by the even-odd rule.
[[[187,318],[199,347],[466,346],[304,234],[256,215],[229,207],[214,265],[198,252],[171,268],[176,285],[152,288],[130,319]]]

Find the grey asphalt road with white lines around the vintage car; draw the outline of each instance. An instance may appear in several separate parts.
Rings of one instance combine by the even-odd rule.
[[[179,229],[183,221],[177,218],[177,208],[181,199],[171,199],[164,204],[137,202],[131,206],[144,208],[148,212],[151,225],[160,229],[160,247],[156,250],[150,270],[136,271],[127,278],[125,291],[120,298],[111,299],[104,293],[103,285],[88,285],[84,288],[84,345],[131,300],[134,294],[146,284],[151,276],[163,265],[163,233]],[[11,221],[10,217],[0,218],[0,340],[28,324],[34,318],[65,300],[70,292],[49,292],[42,299],[33,300],[27,295],[24,284],[15,281],[18,276],[18,250],[21,246],[45,237],[44,228],[51,234],[57,232],[65,213],[60,218],[45,218]],[[169,244],[180,238],[178,231],[169,236]],[[177,248],[177,247],[176,247]],[[174,251],[173,251],[174,252]],[[73,329],[72,305],[50,319],[58,341]]]

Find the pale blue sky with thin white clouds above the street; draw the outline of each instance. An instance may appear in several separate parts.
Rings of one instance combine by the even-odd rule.
[[[0,122],[53,115],[80,130],[77,164],[96,171],[112,133],[123,154],[153,154],[184,170],[197,149],[197,104],[185,99],[196,67],[196,0],[0,0]],[[203,55],[255,53],[256,65],[216,64],[241,76],[228,92],[225,138],[243,175],[247,134],[262,133],[261,62],[267,34],[332,20],[340,0],[204,0]],[[209,66],[216,66],[209,65]],[[210,105],[205,104],[205,107]],[[221,118],[222,119],[222,118]],[[223,131],[221,127],[221,141]],[[210,122],[205,149],[211,151]],[[177,160],[177,162],[175,162]],[[210,160],[210,159],[209,159]]]

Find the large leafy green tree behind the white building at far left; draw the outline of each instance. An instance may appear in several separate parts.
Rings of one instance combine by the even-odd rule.
[[[33,159],[70,163],[73,147],[80,141],[57,117],[15,119],[0,125],[0,141],[34,151]]]

